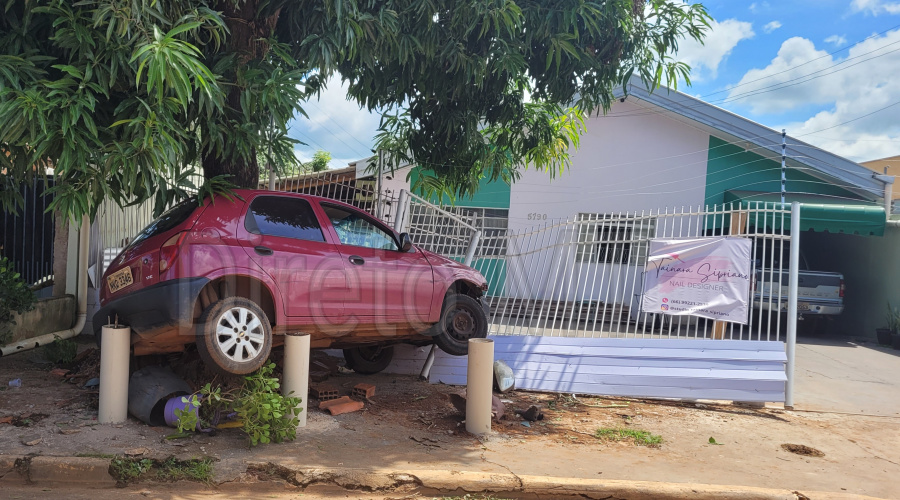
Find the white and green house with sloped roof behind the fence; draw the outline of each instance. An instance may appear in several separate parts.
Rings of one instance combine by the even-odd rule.
[[[884,208],[893,178],[876,175],[790,134],[783,135],[681,92],[661,88],[651,93],[639,80],[633,80],[628,95],[622,95],[609,113],[586,121],[581,146],[565,172],[551,178],[546,172],[528,169],[512,186],[485,182],[472,198],[456,200],[447,209],[468,218],[486,233],[507,230],[514,234],[560,221],[582,220],[591,221],[582,226],[582,232],[596,231],[603,238],[613,235],[617,240],[630,241],[652,236],[657,218],[654,214],[661,211],[746,208],[766,203],[780,206],[782,152],[785,202],[802,204],[801,252],[811,269],[844,274],[845,312],[829,327],[845,334],[872,335],[877,326],[873,321],[880,321],[884,304],[888,300],[900,303],[900,290],[891,287],[900,278],[900,257],[893,251],[900,241],[900,227],[888,223]],[[393,192],[408,189],[405,171],[399,174],[393,173],[390,180],[383,177],[382,185],[389,185]],[[410,176],[416,174],[413,169]],[[372,175],[371,169],[358,166],[357,178]],[[648,222],[623,223],[621,214],[645,214]],[[728,221],[707,224],[709,233],[727,226]],[[579,241],[593,238],[590,234],[578,237]],[[574,262],[560,269],[572,274],[573,283],[578,283],[579,273],[595,265],[632,276],[633,269],[641,265],[642,251],[601,249],[592,262],[579,252],[563,257]],[[555,293],[534,278],[549,272],[548,266],[559,266],[551,262],[553,259],[544,259],[543,263],[533,259],[539,261],[538,268],[543,268],[530,265],[525,274],[531,278],[514,283],[509,279],[509,267],[517,264],[515,259],[485,254],[480,258],[475,265],[489,275],[495,293],[529,293],[538,298]],[[873,259],[881,270],[873,270]],[[627,286],[636,282],[632,279]],[[571,287],[566,283],[555,286]],[[614,301],[627,307],[634,295],[632,288],[616,290],[615,296],[609,296],[602,287],[587,288],[582,287],[571,298]]]

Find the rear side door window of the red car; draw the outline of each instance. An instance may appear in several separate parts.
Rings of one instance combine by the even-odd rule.
[[[254,234],[325,241],[309,202],[286,196],[258,196],[247,210],[244,227]]]

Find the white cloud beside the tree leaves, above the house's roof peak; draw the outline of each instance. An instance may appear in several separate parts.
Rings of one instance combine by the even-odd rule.
[[[679,61],[691,66],[691,78],[715,78],[719,64],[724,61],[741,40],[753,38],[753,26],[737,19],[712,21],[704,44],[693,39],[684,40],[678,48]]]

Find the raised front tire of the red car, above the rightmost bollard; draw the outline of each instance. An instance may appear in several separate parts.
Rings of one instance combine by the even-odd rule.
[[[438,334],[434,343],[453,356],[469,353],[469,339],[487,337],[487,316],[476,299],[462,294],[449,294],[441,308],[441,320],[434,326]]]

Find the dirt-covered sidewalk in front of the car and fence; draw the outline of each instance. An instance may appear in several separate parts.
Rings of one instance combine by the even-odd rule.
[[[308,426],[296,441],[248,449],[237,430],[166,440],[171,429],[134,419],[121,426],[96,425],[95,397],[48,370],[24,357],[4,358],[0,366],[0,375],[14,371],[22,379],[21,388],[0,392],[0,417],[18,415],[21,424],[22,415],[29,414],[26,420],[34,421],[21,427],[0,424],[0,484],[24,479],[15,466],[19,460],[21,471],[26,457],[62,457],[39,458],[44,470],[53,463],[62,464],[59,468],[93,464],[102,477],[109,457],[128,454],[158,460],[211,457],[216,483],[275,478],[288,485],[331,482],[387,491],[409,485],[500,493],[528,489],[545,497],[576,493],[566,489],[569,484],[597,498],[802,498],[795,491],[810,498],[826,497],[810,492],[900,498],[900,418],[892,416],[518,392],[509,396],[508,406],[540,403],[545,420],[531,427],[507,420],[479,440],[461,430],[462,417],[446,399],[456,388],[411,377],[353,374],[329,383],[347,392],[359,381],[376,384],[363,411],[332,417],[314,409],[313,399]],[[509,408],[507,415],[512,414]],[[594,437],[600,428],[646,430],[663,442],[649,448],[602,441]],[[783,444],[814,448],[824,456],[798,455]],[[32,473],[31,480],[39,483],[47,476]]]

